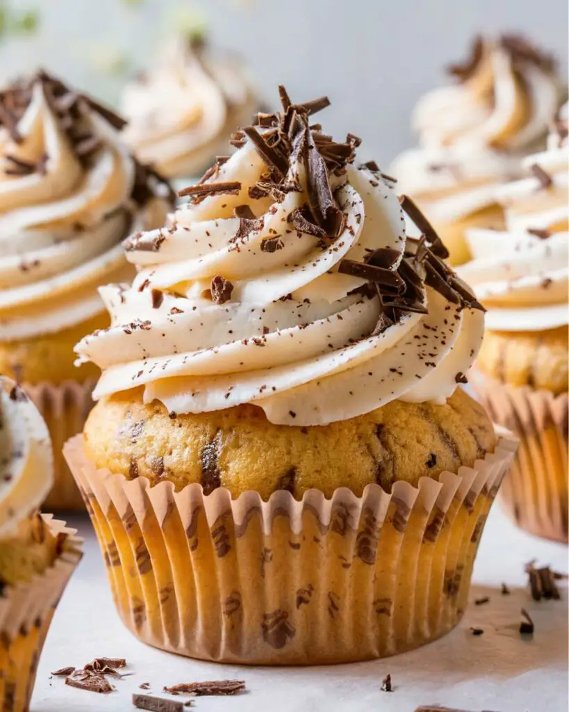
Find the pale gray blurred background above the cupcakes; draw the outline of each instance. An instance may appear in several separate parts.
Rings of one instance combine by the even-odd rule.
[[[361,136],[361,156],[383,165],[413,143],[415,101],[479,31],[528,34],[567,76],[567,0],[0,0],[0,12],[2,79],[41,65],[111,102],[176,25],[205,19],[267,103],[277,83],[293,100],[328,94],[326,131]]]

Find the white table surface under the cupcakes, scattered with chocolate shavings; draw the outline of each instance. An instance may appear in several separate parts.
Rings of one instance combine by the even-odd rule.
[[[567,572],[568,548],[517,530],[496,504],[486,524],[474,567],[471,604],[457,629],[422,649],[393,658],[316,668],[249,668],[193,661],[154,650],[122,626],[107,585],[105,567],[90,522],[70,524],[85,537],[85,557],[68,586],[38,669],[32,712],[128,712],[132,693],[151,684],[211,679],[244,679],[248,692],[234,697],[200,697],[196,709],[243,712],[270,710],[413,712],[421,704],[472,712],[566,712],[568,709],[568,590],[561,601],[531,600],[523,565]],[[501,595],[501,582],[511,595]],[[564,586],[564,584],[562,583]],[[474,599],[489,596],[489,604]],[[533,640],[519,634],[520,609],[533,617]],[[472,636],[470,627],[484,634]],[[81,667],[97,656],[127,659],[132,676],[115,682],[108,695],[72,689],[64,678],[50,678],[63,666]],[[380,690],[390,673],[393,692]],[[180,699],[180,698],[179,698]]]

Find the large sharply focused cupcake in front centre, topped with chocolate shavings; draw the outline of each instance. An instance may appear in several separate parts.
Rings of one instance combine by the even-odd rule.
[[[66,446],[122,619],[179,654],[370,659],[450,630],[514,447],[457,383],[484,313],[326,98],[260,115],[78,345]],[[407,239],[403,211],[425,231]]]

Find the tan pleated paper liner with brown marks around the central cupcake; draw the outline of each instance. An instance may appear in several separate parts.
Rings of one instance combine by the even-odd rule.
[[[65,446],[124,624],[142,641],[242,664],[320,664],[399,653],[452,629],[467,604],[486,515],[514,456],[494,454],[356,497],[317,490],[263,502],[179,492],[97,470]]]

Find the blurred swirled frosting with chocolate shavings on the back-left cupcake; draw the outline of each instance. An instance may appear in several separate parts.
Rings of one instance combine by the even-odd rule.
[[[122,239],[163,224],[173,197],[119,117],[45,73],[1,93],[0,122],[0,340],[14,340],[101,313],[97,286],[132,273]]]

